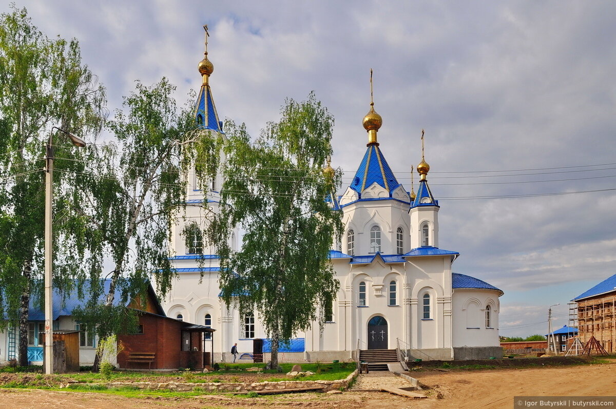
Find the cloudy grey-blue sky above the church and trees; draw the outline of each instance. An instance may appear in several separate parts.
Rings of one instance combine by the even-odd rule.
[[[135,79],[198,89],[208,24],[219,115],[256,135],[314,90],[349,178],[373,68],[381,150],[410,190],[426,130],[440,247],[505,291],[502,335],[546,333],[557,303],[565,325],[567,302],[616,273],[616,2],[16,1],[79,39],[111,110]]]

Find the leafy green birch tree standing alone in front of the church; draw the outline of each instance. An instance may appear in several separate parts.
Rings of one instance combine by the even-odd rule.
[[[241,312],[257,310],[274,366],[278,339],[323,323],[324,304],[339,288],[328,254],[342,229],[341,214],[326,203],[341,174],[331,180],[322,171],[333,117],[314,93],[287,100],[281,114],[254,142],[243,124],[225,124],[221,211],[209,229],[221,257],[222,299]],[[227,238],[238,226],[243,245],[233,252]]]

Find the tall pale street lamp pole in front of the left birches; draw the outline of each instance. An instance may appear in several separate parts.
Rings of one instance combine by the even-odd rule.
[[[54,373],[54,307],[52,302],[53,278],[52,271],[54,267],[54,239],[52,231],[52,207],[54,203],[54,147],[52,145],[52,137],[54,129],[66,134],[73,145],[83,148],[86,146],[79,137],[70,132],[60,129],[57,126],[51,128],[49,132],[49,140],[46,146],[46,175],[45,175],[45,373],[51,375]]]

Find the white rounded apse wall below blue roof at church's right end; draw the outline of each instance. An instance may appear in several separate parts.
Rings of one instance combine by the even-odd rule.
[[[452,296],[453,346],[498,347],[498,291],[456,289]],[[485,307],[490,306],[490,327]],[[490,355],[493,356],[493,355]]]

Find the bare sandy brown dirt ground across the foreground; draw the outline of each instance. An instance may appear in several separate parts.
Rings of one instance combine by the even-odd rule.
[[[0,408],[511,408],[514,396],[616,395],[616,365],[576,365],[480,371],[418,371],[429,398],[411,400],[384,392],[287,394],[270,397],[126,398],[95,392],[0,389]]]

